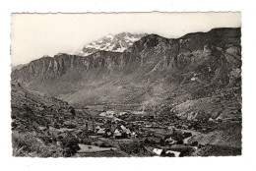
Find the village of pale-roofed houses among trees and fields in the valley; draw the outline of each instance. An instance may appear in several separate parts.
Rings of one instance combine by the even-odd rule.
[[[79,156],[114,150],[135,156],[188,156],[203,145],[188,141],[193,134],[214,127],[206,120],[189,122],[175,115],[145,111],[106,110],[94,116],[75,114],[75,110],[71,113],[71,117],[52,117],[46,127],[39,128],[54,137],[57,144],[68,134],[73,135],[79,140]]]

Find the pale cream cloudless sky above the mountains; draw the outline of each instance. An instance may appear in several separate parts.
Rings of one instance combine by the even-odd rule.
[[[123,31],[177,38],[212,28],[240,27],[240,13],[12,14],[11,64],[81,51],[92,41]]]

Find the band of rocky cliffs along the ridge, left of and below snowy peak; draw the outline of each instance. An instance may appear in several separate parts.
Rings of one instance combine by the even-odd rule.
[[[52,82],[68,74],[78,76],[99,68],[111,68],[118,56],[120,53],[117,52],[98,51],[87,58],[68,54],[42,57],[22,69],[14,71],[12,78],[26,84]]]

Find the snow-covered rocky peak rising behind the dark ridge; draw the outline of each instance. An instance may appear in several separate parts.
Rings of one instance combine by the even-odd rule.
[[[133,43],[143,36],[145,33],[136,34],[129,32],[121,32],[116,35],[108,34],[102,39],[87,44],[81,52],[75,52],[74,55],[88,56],[97,51],[123,52]]]

